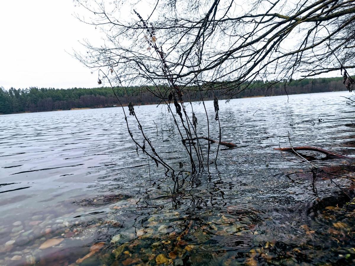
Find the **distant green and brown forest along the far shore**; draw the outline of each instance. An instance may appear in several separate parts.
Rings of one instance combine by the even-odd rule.
[[[251,96],[274,96],[285,95],[284,85],[280,84],[276,87],[265,90],[262,89],[264,82],[258,81],[253,89],[244,90],[233,98],[243,98]],[[135,95],[130,98],[134,104],[157,104],[159,99],[152,94],[143,93],[138,95],[136,92],[139,87],[130,87],[127,89],[129,94]],[[303,79],[301,81],[292,81],[286,86],[288,94],[301,93],[319,93],[334,92],[345,90],[342,77],[336,78],[316,78]],[[125,97],[124,90],[119,88],[116,90],[122,104],[127,105],[128,99]],[[228,96],[223,95],[222,90],[216,90],[215,95],[218,99],[227,99]],[[192,101],[200,100],[200,95],[190,95]],[[211,92],[203,93],[204,100],[212,100]],[[26,89],[10,88],[5,90],[0,87],[0,114],[18,113],[18,112],[40,112],[54,110],[71,110],[76,108],[101,108],[119,106],[112,89],[108,87],[100,87],[93,89],[71,88],[71,89],[54,89],[54,88],[37,88],[30,87]]]

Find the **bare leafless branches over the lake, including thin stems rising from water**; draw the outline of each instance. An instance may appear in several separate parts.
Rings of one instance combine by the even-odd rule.
[[[210,138],[207,111],[208,136],[197,135],[196,116],[186,112],[182,95],[190,99],[189,93],[195,91],[203,101],[203,91],[220,89],[232,97],[256,84],[286,86],[293,79],[331,71],[344,75],[349,91],[354,87],[349,71],[355,68],[355,0],[256,0],[242,5],[234,0],[75,2],[90,14],[78,18],[104,34],[102,44],[86,41],[87,51],[75,56],[100,68],[99,84],[106,79],[120,87],[139,85],[141,92],[167,104],[192,172],[195,161],[203,167],[199,140],[208,140],[207,166],[210,143],[216,141]],[[219,120],[217,98],[214,103]],[[157,165],[173,171],[136,120],[151,150],[135,143]],[[218,144],[224,144],[220,128]],[[219,145],[217,155],[218,149]]]

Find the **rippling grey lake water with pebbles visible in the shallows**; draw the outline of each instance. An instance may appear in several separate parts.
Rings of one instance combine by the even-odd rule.
[[[219,151],[209,172],[180,176],[174,195],[164,169],[137,155],[119,107],[2,115],[0,265],[353,264],[355,205],[340,205],[351,182],[332,175],[354,176],[353,160],[273,149],[290,138],[354,156],[355,109],[340,96],[350,93],[219,101],[222,141],[237,148]],[[207,136],[202,104],[193,110]],[[191,170],[166,106],[135,111],[164,160]]]

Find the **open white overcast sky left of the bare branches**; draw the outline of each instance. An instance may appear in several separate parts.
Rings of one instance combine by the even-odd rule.
[[[72,0],[0,0],[0,87],[97,87],[67,52],[98,34],[78,21]]]

